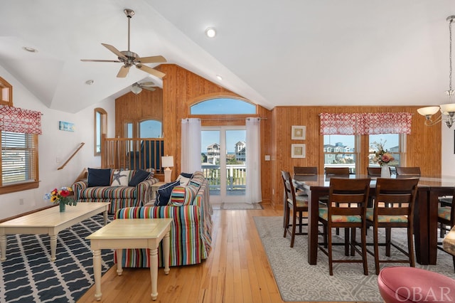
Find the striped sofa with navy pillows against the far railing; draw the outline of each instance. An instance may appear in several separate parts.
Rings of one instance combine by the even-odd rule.
[[[87,180],[73,184],[77,202],[110,202],[109,214],[119,209],[144,206],[152,199],[154,169],[88,169]]]

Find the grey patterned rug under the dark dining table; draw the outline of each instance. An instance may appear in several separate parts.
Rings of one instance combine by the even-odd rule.
[[[294,248],[290,248],[291,236],[283,237],[283,217],[254,217],[255,225],[262,245],[267,253],[270,267],[277,282],[279,292],[285,302],[383,302],[378,289],[378,276],[372,255],[367,255],[368,276],[363,275],[361,263],[333,263],[333,276],[328,275],[328,258],[318,250],[318,262],[307,262],[307,236],[296,235]],[[367,243],[373,243],[372,228],[368,230]],[[340,230],[342,235],[343,230]],[[341,238],[340,238],[341,240]],[[381,240],[381,238],[380,238]],[[405,231],[392,230],[392,241],[405,245]],[[344,247],[334,258],[344,257]],[[373,250],[373,247],[369,248]],[[383,248],[382,248],[383,249]],[[385,255],[381,251],[380,255]],[[397,251],[392,250],[396,257]],[[358,255],[356,255],[358,257]],[[409,266],[402,263],[382,263],[385,266]],[[438,250],[437,265],[419,265],[416,267],[439,272],[455,279],[451,255]]]

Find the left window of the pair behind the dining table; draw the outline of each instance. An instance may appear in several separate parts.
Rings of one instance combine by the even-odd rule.
[[[324,135],[323,154],[325,167],[349,167],[350,174],[355,174],[354,135],[326,134]]]

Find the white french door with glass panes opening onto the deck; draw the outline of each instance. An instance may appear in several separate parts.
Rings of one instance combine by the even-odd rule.
[[[245,202],[246,130],[238,127],[202,127],[201,166],[210,184],[210,201]]]

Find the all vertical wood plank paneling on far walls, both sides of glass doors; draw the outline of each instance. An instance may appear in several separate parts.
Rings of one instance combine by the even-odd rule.
[[[156,69],[166,73],[163,79],[163,90],[155,92],[143,90],[139,95],[128,92],[116,100],[116,137],[123,137],[124,122],[140,121],[141,119],[161,119],[164,130],[164,150],[174,156],[175,166],[172,178],[180,173],[181,164],[181,119],[198,117],[190,115],[191,105],[210,97],[240,97],[229,90],[191,73],[178,65],[159,65]],[[302,104],[306,100],[302,100]],[[254,102],[254,100],[252,100]],[[119,103],[117,105],[117,103]],[[323,167],[323,138],[319,134],[319,114],[321,112],[411,112],[412,134],[407,136],[407,166],[420,166],[426,176],[441,174],[441,128],[424,126],[424,117],[417,114],[418,107],[314,107],[294,106],[275,107],[267,110],[257,106],[257,117],[261,121],[261,173],[262,201],[271,203],[274,208],[282,208],[283,191],[282,169],[292,171],[294,166]],[[225,118],[238,119],[225,119]],[[202,117],[201,117],[202,118]],[[212,117],[213,118],[213,117]],[[215,117],[216,118],[216,117]],[[223,115],[220,119],[203,119],[203,126],[210,125],[244,125],[245,116]],[[306,139],[291,140],[291,126],[305,125]],[[306,144],[306,158],[292,159],[291,144]],[[368,142],[361,142],[363,149]],[[264,156],[270,155],[271,161],[265,161]],[[365,161],[360,173],[365,174],[368,156],[361,156]],[[322,169],[319,169],[320,173]]]

